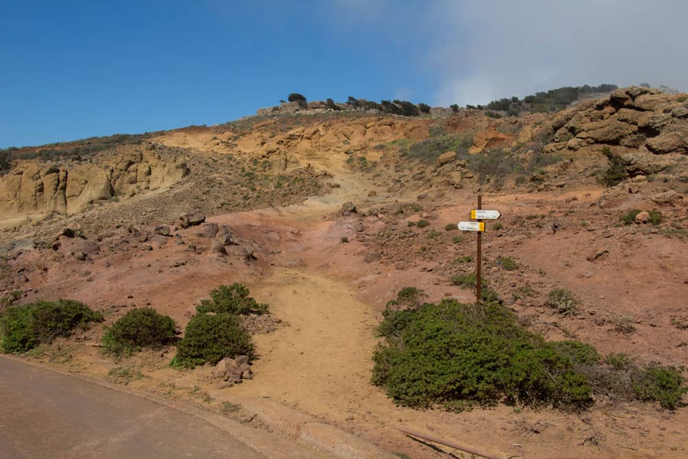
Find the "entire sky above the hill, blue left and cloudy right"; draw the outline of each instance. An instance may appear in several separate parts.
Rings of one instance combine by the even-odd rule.
[[[687,86],[682,1],[659,1],[662,15],[632,0],[551,3],[4,0],[0,147],[212,125],[290,92],[464,105],[561,85]]]

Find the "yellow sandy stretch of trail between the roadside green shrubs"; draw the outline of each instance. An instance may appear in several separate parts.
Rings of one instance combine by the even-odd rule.
[[[306,412],[342,421],[369,387],[378,322],[372,309],[344,284],[279,269],[256,292],[288,326],[257,335],[257,375],[233,389],[237,396],[269,396]],[[379,401],[384,400],[378,394]],[[388,402],[387,402],[388,403]],[[343,417],[342,417],[343,416]]]

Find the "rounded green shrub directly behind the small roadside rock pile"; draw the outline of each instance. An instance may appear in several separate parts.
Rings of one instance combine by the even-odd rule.
[[[251,338],[237,316],[226,312],[198,314],[186,325],[171,365],[176,368],[193,368],[206,362],[215,365],[225,357],[252,353]]]

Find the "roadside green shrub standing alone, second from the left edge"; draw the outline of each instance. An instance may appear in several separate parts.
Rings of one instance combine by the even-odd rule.
[[[103,335],[103,350],[109,354],[131,354],[141,348],[162,346],[175,338],[171,317],[153,308],[132,309]]]

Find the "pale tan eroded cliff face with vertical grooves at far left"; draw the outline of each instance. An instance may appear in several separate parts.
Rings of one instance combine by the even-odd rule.
[[[19,162],[0,177],[0,213],[77,213],[98,200],[170,186],[189,173],[181,158],[125,147],[97,162],[45,164]]]

